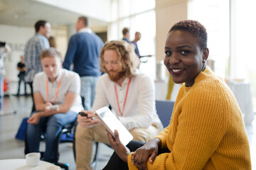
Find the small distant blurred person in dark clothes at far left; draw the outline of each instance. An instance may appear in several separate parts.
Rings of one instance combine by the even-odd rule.
[[[18,91],[16,96],[20,95],[20,89],[21,89],[21,81],[24,82],[24,94],[27,95],[26,93],[26,82],[25,82],[25,74],[26,74],[26,65],[24,62],[24,57],[21,55],[21,61],[18,62],[17,64],[17,69],[18,69]]]

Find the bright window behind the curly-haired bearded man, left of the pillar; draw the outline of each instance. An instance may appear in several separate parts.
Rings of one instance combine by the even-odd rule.
[[[137,42],[140,55],[153,55],[141,63],[139,69],[152,79],[155,78],[155,36],[156,16],[155,0],[112,0],[111,22],[108,26],[108,40],[121,40],[122,29],[129,28],[130,41],[139,31],[142,38]]]

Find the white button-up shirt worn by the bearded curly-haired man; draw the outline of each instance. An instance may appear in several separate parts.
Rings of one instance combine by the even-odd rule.
[[[145,74],[137,73],[132,77],[131,83],[129,84],[127,101],[123,108],[128,83],[129,79],[126,78],[122,82],[122,86],[119,86],[110,80],[108,74],[102,75],[97,83],[92,111],[96,111],[110,103],[112,111],[117,115],[117,118],[119,118],[127,130],[148,128],[149,125],[154,125],[156,128],[162,129],[163,125],[159,120],[159,116],[156,114],[154,81]],[[119,101],[117,101],[114,86],[117,87]],[[117,102],[119,102],[122,116],[119,113]]]

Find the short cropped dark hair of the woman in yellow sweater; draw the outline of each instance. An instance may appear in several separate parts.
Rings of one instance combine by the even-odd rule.
[[[169,30],[169,33],[172,30],[188,31],[188,33],[191,33],[191,35],[194,35],[196,38],[198,38],[198,44],[201,47],[201,50],[207,48],[206,28],[198,21],[193,21],[193,20],[179,21],[178,23],[175,23],[174,26],[171,27],[171,30]]]

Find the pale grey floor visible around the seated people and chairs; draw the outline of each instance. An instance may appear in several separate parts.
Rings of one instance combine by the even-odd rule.
[[[0,114],[0,159],[22,159],[24,158],[24,142],[15,139],[16,132],[23,118],[28,117],[31,111],[30,96],[6,96],[4,97],[3,112]],[[252,159],[252,170],[256,170],[256,116],[250,125],[246,125],[247,135],[250,141]],[[41,149],[44,144],[41,143]],[[69,143],[60,145],[59,162],[68,163],[70,170],[75,170],[72,145]],[[113,150],[100,144],[99,159],[95,169],[102,169],[111,156]]]

